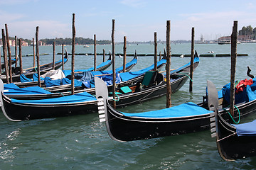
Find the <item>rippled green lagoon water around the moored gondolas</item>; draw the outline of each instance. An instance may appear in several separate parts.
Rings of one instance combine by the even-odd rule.
[[[68,52],[71,47],[66,46]],[[97,52],[106,53],[111,45],[98,45]],[[164,45],[158,49],[163,53]],[[230,45],[195,45],[198,54],[208,51],[230,53]],[[53,47],[40,47],[40,53],[49,53],[41,57],[41,64],[52,61]],[[127,53],[154,53],[154,45],[128,45]],[[189,54],[190,44],[171,44],[171,53]],[[56,47],[56,53],[61,47]],[[93,52],[93,47],[76,46],[75,52]],[[122,45],[116,46],[116,52],[122,52]],[[23,47],[23,55],[33,53],[32,47]],[[247,65],[256,74],[256,44],[239,44],[238,53],[247,53],[247,57],[238,57],[236,79],[246,76]],[[60,56],[56,57],[57,60]],[[117,57],[117,67],[122,58]],[[127,62],[132,57],[127,57]],[[178,68],[190,61],[189,58],[172,57],[171,69]],[[102,56],[97,57],[97,63]],[[153,64],[153,57],[139,57],[134,71]],[[65,64],[70,69],[71,60]],[[75,69],[92,67],[92,56],[75,56]],[[32,67],[33,57],[23,57],[23,67]],[[173,106],[188,101],[199,103],[206,91],[206,80],[213,81],[217,89],[230,81],[230,57],[201,57],[194,72],[193,93],[188,92],[188,82],[171,96]],[[152,101],[120,109],[134,113],[159,110],[165,107],[165,96]],[[255,119],[251,115],[246,120]],[[244,120],[245,121],[245,120]],[[215,139],[210,131],[187,135],[161,137],[134,142],[116,142],[110,139],[104,123],[99,123],[97,113],[72,117],[50,118],[11,122],[0,114],[0,169],[255,169],[256,158],[225,162],[219,157]]]

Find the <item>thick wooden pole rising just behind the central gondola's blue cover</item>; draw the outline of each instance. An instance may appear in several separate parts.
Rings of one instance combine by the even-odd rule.
[[[170,32],[171,32],[171,21],[166,22],[166,108],[171,107],[171,82],[170,82],[170,70],[171,70],[171,41],[170,41]]]

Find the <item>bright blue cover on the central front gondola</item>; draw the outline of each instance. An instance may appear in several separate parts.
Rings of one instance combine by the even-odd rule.
[[[195,103],[188,102],[171,108],[164,108],[158,111],[149,111],[144,113],[123,113],[129,117],[142,117],[142,118],[178,118],[194,115],[204,115],[212,113],[205,108],[201,108]]]

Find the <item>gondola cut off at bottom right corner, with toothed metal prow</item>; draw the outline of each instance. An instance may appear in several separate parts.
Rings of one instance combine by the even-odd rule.
[[[214,108],[214,114],[211,114],[210,125],[212,137],[215,137],[220,157],[225,161],[234,161],[246,157],[256,156],[256,120],[249,123],[235,124],[230,123],[220,114],[218,109],[218,95],[213,85],[215,97],[209,101]],[[217,107],[215,107],[217,105]],[[247,108],[255,112],[255,101],[243,104],[239,108]],[[228,115],[228,113],[225,113]]]

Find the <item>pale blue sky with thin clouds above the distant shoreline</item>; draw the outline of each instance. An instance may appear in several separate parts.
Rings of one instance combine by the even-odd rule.
[[[39,39],[72,38],[75,13],[76,37],[114,41],[166,40],[166,21],[171,21],[171,40],[213,40],[230,35],[233,21],[256,27],[255,0],[0,0],[0,28],[9,36]]]

